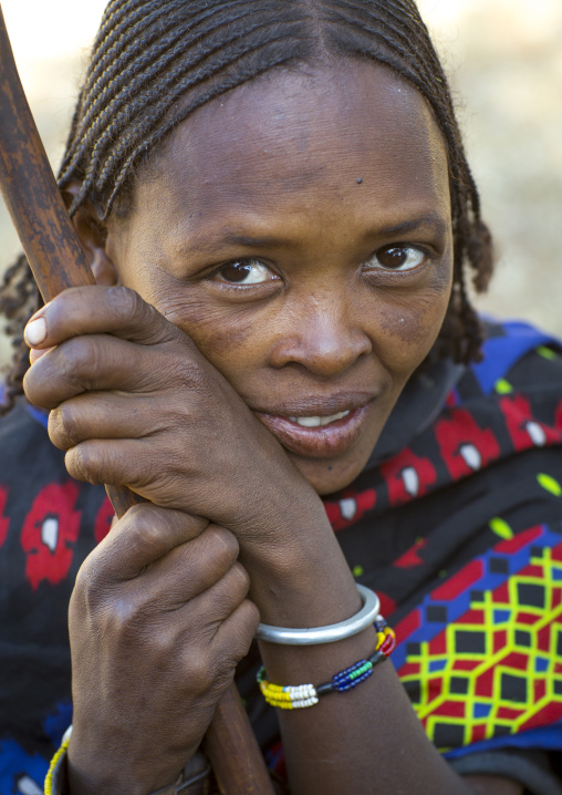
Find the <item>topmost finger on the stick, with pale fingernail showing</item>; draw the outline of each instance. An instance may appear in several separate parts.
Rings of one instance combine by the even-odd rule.
[[[178,339],[180,332],[127,287],[74,287],[42,307],[25,327],[30,348],[52,348],[82,334],[113,334],[145,345]],[[187,338],[186,338],[187,339]]]

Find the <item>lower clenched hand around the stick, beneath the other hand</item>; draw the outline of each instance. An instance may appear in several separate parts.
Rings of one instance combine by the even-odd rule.
[[[146,795],[197,750],[259,621],[238,541],[133,507],[83,564],[70,606],[73,795]]]

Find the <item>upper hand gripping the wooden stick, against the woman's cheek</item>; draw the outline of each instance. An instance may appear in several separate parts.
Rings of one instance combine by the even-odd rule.
[[[51,410],[49,432],[73,477],[128,485],[157,505],[206,516],[235,531],[242,549],[287,543],[279,517],[295,533],[312,514],[325,522],[277,440],[137,293],[71,289],[38,317],[46,335],[35,348],[52,350],[28,372],[25,392]]]

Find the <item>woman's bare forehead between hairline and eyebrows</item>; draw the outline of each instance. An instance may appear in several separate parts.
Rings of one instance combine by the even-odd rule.
[[[192,228],[201,218],[320,211],[319,196],[326,213],[360,203],[388,216],[382,223],[407,206],[448,207],[440,131],[391,70],[343,60],[277,71],[214,100],[169,138],[137,206]]]

